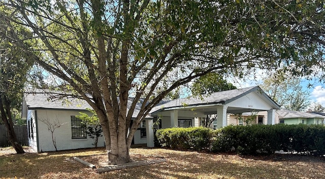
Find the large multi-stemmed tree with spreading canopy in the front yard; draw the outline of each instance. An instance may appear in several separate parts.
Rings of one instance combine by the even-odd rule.
[[[9,0],[1,6],[7,26],[23,25],[37,41],[29,48],[17,35],[16,44],[62,80],[61,90],[79,94],[96,112],[113,164],[131,161],[133,136],[150,110],[201,76],[244,78],[255,68],[279,66],[300,76],[325,66],[323,1]]]

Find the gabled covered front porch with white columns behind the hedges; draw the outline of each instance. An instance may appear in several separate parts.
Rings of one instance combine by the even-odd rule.
[[[267,111],[267,124],[275,124],[275,111],[280,106],[260,87],[222,91],[202,98],[190,97],[163,101],[146,119],[147,146],[154,147],[154,119],[161,119],[160,128],[200,126],[198,118],[217,115],[217,128],[228,125],[227,114]]]

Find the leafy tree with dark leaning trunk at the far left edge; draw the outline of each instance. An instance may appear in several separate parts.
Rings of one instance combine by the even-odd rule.
[[[0,19],[0,23],[6,24],[4,20]],[[8,140],[15,151],[21,154],[24,150],[18,143],[14,125],[22,122],[17,113],[21,111],[26,74],[33,62],[28,60],[24,50],[14,43],[15,34],[8,30],[10,26],[3,26],[4,28],[0,28],[0,118],[6,126]],[[30,35],[19,25],[15,28],[22,35],[21,38]]]

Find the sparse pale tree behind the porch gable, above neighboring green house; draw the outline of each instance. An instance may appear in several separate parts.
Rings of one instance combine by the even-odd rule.
[[[281,108],[304,111],[309,105],[310,94],[307,90],[303,90],[300,82],[299,78],[279,71],[264,78],[260,86]]]

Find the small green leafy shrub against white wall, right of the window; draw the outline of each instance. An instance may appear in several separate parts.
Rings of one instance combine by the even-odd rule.
[[[102,126],[100,119],[96,115],[95,111],[87,109],[89,112],[92,113],[92,116],[88,116],[86,113],[80,113],[80,116],[76,116],[77,118],[81,119],[83,123],[87,126],[87,135],[93,139],[93,144],[95,148],[98,144],[98,138],[103,136]]]

